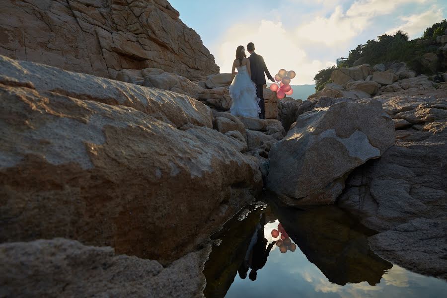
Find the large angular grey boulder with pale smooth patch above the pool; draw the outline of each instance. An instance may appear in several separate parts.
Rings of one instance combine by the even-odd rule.
[[[270,150],[267,186],[291,206],[332,204],[347,174],[393,143],[394,124],[376,100],[301,114]]]

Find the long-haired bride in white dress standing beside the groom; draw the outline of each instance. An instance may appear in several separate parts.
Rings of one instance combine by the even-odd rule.
[[[236,76],[229,86],[229,93],[233,99],[230,112],[234,116],[259,118],[260,99],[256,96],[256,86],[251,80],[250,60],[246,57],[244,47],[238,46],[231,70],[231,73]]]

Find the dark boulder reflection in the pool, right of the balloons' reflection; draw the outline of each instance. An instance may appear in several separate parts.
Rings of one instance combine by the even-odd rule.
[[[274,204],[271,208],[307,259],[332,283],[343,286],[367,281],[375,285],[392,267],[369,248],[367,237],[373,232],[335,206],[306,211]]]

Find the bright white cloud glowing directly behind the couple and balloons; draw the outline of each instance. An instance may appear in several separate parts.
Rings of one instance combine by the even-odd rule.
[[[319,70],[334,65],[333,62],[308,61],[295,36],[287,32],[281,22],[262,20],[257,26],[237,24],[228,29],[222,40],[223,43],[211,47],[222,73],[231,72],[237,46],[246,47],[249,42],[253,42],[256,53],[264,57],[272,76],[283,68],[294,70],[297,76],[291,84],[312,83]]]

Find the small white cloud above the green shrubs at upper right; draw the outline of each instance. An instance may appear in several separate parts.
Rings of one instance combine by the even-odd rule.
[[[394,29],[388,30],[386,33],[393,34],[398,30],[402,30],[408,33],[410,38],[416,38],[421,36],[424,30],[433,25],[436,20],[441,20],[442,18],[443,10],[433,6],[430,10],[427,10],[421,14],[400,17],[404,23]]]

